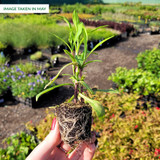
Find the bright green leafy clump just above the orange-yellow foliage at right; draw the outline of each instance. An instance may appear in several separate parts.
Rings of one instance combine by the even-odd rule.
[[[116,73],[108,78],[125,92],[138,93],[141,95],[156,94],[160,91],[159,78],[149,71],[142,69],[130,69],[118,67]]]

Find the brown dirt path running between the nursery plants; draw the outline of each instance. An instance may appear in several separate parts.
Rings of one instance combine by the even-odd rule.
[[[86,82],[91,87],[97,86],[99,89],[109,89],[112,82],[108,81],[108,76],[115,72],[119,66],[128,69],[137,67],[136,56],[139,52],[146,49],[158,47],[160,35],[141,34],[138,37],[130,37],[113,47],[96,51],[98,55],[92,55],[90,60],[99,59],[102,63],[93,63],[88,65],[85,70]],[[59,68],[66,63],[65,59],[60,59],[60,65],[49,74],[55,75]],[[71,68],[65,69],[65,73],[71,73]],[[63,73],[64,73],[63,72]],[[61,76],[57,83],[68,82],[67,77]],[[71,88],[61,88],[57,93],[49,97],[46,102],[41,104],[40,108],[29,108],[22,104],[7,103],[0,107],[0,147],[4,138],[25,129],[25,124],[32,121],[34,124],[45,117],[45,110],[48,106],[54,106],[65,101],[73,94]]]

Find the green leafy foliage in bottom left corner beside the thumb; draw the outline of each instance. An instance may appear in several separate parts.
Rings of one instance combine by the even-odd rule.
[[[34,136],[25,132],[8,137],[4,143],[7,148],[0,148],[0,159],[3,160],[23,160],[38,144]]]

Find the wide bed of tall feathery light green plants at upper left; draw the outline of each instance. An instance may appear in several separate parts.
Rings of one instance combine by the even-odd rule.
[[[68,41],[68,28],[56,24],[54,19],[43,15],[21,15],[19,18],[0,20],[0,41],[20,49],[33,45],[38,48],[64,45],[54,34]],[[107,31],[109,32],[111,33]],[[106,38],[106,33],[103,35],[101,34],[101,39]]]

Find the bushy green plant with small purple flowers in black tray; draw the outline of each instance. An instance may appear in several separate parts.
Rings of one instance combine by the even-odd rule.
[[[39,74],[36,76],[29,74],[28,76],[19,77],[15,78],[11,86],[15,99],[29,107],[35,107],[40,104],[36,102],[35,96],[41,92],[49,82],[48,78],[42,77]]]

